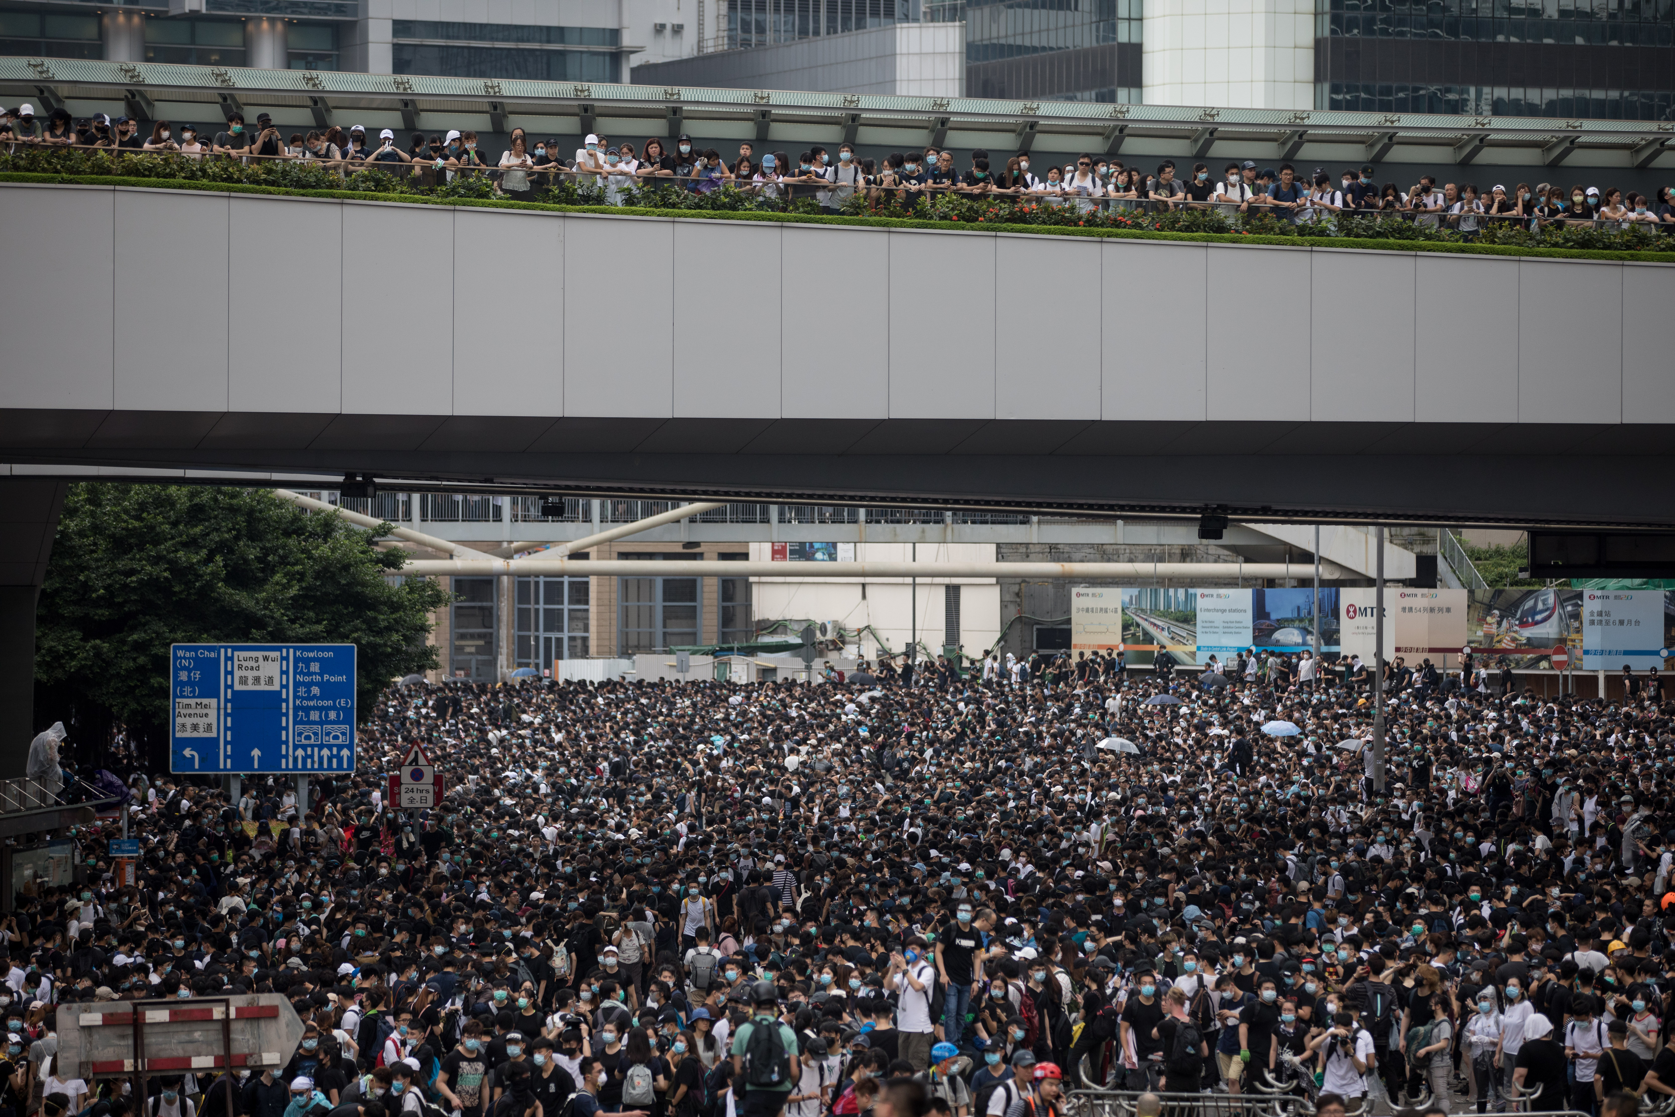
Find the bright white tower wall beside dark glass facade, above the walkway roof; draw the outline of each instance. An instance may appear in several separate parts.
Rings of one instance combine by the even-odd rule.
[[[1315,107],[1313,0],[1146,0],[1149,106]]]

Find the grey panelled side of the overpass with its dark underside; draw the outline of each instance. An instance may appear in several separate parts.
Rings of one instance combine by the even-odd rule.
[[[1672,265],[102,186],[0,221],[13,477],[1672,519]]]

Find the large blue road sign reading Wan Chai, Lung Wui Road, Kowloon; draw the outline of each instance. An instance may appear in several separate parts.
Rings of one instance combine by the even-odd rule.
[[[169,770],[355,770],[355,645],[178,643]]]

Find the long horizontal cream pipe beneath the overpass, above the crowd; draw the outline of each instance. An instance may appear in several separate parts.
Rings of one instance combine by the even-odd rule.
[[[678,568],[678,569],[677,569]],[[402,574],[546,578],[1313,578],[1313,561],[1300,563],[662,563],[645,559],[409,559]],[[1322,563],[1325,581],[1352,574],[1337,563]]]

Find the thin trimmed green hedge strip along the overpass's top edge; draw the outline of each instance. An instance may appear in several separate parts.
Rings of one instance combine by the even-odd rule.
[[[883,229],[941,229],[970,233],[1028,233],[1033,236],[1097,236],[1146,241],[1193,241],[1209,245],[1278,245],[1285,248],[1355,248],[1400,253],[1454,253],[1472,256],[1541,256],[1553,260],[1631,260],[1675,263],[1675,251],[1626,251],[1598,248],[1541,248],[1516,245],[1481,245],[1459,241],[1360,239],[1348,236],[1270,236],[1256,233],[1166,233],[1157,229],[1038,226],[1005,223],[953,223],[923,218],[824,216],[807,213],[719,211],[719,209],[647,209],[635,206],[564,206],[481,198],[439,198],[429,194],[384,194],[347,189],[286,189],[248,183],[216,183],[114,174],[40,174],[0,171],[0,183],[37,183],[62,186],[137,186],[146,189],[186,189],[228,194],[275,194],[293,198],[333,198],[347,201],[384,201],[409,206],[471,206],[481,209],[536,209],[543,213],[591,213],[635,218],[687,218],[693,221],[786,221],[794,224],[851,224]]]

